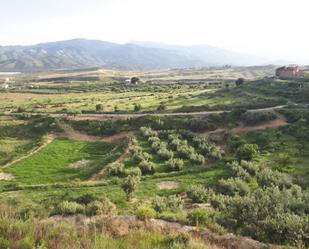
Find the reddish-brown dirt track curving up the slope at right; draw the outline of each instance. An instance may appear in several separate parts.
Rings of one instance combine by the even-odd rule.
[[[222,133],[227,132],[227,131],[232,132],[232,133],[246,133],[246,132],[250,132],[250,131],[263,130],[263,129],[267,129],[267,128],[277,129],[279,127],[282,127],[282,126],[285,126],[285,125],[288,124],[286,118],[282,114],[275,112],[275,111],[272,111],[272,112],[277,116],[277,118],[275,120],[271,120],[269,122],[265,122],[265,123],[253,125],[253,126],[247,126],[247,125],[244,125],[243,123],[241,123],[238,127],[235,127],[231,130],[228,130],[228,129],[225,129],[225,128],[218,128],[214,131],[204,132],[204,133],[201,134],[201,136],[208,138],[212,135],[222,134]]]

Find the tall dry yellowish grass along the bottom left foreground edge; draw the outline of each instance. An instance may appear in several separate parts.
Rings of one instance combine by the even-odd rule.
[[[38,219],[26,208],[0,206],[0,249],[206,249],[187,235],[138,230],[115,236],[102,221]]]

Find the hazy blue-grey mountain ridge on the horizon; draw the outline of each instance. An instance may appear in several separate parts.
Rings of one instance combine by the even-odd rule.
[[[49,71],[105,67],[149,70],[265,61],[208,45],[176,46],[153,42],[117,44],[74,39],[32,46],[0,46],[0,71]]]

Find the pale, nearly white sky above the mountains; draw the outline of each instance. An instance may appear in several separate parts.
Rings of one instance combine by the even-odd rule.
[[[309,62],[308,0],[0,0],[0,45],[208,44]]]

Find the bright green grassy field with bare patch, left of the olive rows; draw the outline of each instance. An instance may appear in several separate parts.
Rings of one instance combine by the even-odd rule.
[[[13,174],[22,184],[86,180],[121,153],[122,147],[118,144],[57,139],[5,172]]]

